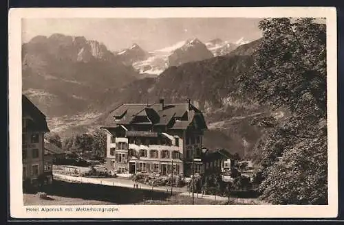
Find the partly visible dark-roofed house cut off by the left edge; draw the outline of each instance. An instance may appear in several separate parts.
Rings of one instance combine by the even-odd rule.
[[[50,130],[45,115],[28,97],[22,95],[22,162],[25,184],[36,186],[43,180],[52,182],[51,176],[45,176],[44,134],[46,132]]]

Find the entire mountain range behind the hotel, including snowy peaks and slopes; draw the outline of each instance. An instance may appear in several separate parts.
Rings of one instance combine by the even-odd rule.
[[[50,129],[65,135],[96,128],[119,104],[190,98],[211,128],[204,144],[242,155],[262,132],[250,119],[270,114],[236,95],[258,45],[194,38],[153,52],[137,44],[111,52],[84,37],[36,36],[23,44],[23,93],[47,115]]]

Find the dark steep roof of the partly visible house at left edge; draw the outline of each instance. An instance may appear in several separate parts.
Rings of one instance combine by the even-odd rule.
[[[22,117],[30,117],[25,130],[50,132],[45,115],[25,95],[21,95]]]

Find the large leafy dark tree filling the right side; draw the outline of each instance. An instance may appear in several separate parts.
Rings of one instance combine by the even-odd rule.
[[[326,30],[314,19],[264,19],[241,91],[282,112],[264,118],[255,147],[261,198],[273,204],[327,204]],[[268,121],[268,122],[266,122]],[[273,123],[272,123],[272,122]]]

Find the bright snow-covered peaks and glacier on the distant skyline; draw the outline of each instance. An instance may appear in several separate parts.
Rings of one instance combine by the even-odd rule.
[[[156,76],[171,66],[224,56],[246,43],[249,41],[244,38],[232,43],[215,38],[204,44],[199,39],[193,38],[151,52],[146,52],[134,44],[129,49],[123,49],[115,54],[123,58],[125,64],[132,64],[138,73]]]

